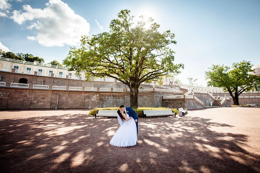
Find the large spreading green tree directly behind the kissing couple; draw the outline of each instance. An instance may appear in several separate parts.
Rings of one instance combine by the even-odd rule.
[[[78,73],[83,71],[88,79],[111,77],[130,89],[130,106],[138,108],[138,88],[142,82],[162,76],[179,74],[183,64],[174,64],[176,44],[170,30],[160,33],[160,25],[143,16],[134,26],[129,10],[122,10],[110,23],[110,31],[82,36],[81,48],[71,48],[64,65]],[[149,27],[147,28],[147,26]]]

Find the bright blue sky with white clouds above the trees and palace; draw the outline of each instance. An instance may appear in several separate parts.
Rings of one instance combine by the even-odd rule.
[[[151,16],[160,31],[170,29],[176,35],[177,45],[171,48],[176,52],[174,62],[184,64],[177,75],[183,83],[196,77],[198,84],[206,85],[204,73],[212,64],[260,62],[259,0],[0,0],[0,48],[31,53],[46,63],[62,62],[79,35],[108,31],[122,9],[135,17]]]

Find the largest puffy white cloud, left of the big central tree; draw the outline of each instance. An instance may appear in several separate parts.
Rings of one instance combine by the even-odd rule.
[[[32,8],[23,5],[22,10],[14,10],[11,18],[18,24],[31,21],[27,29],[34,29],[35,36],[27,36],[43,46],[75,46],[79,44],[81,35],[88,35],[90,25],[83,17],[75,14],[61,0],[50,0],[46,7]]]

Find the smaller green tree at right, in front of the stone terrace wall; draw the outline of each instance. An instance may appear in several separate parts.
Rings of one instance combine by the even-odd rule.
[[[231,67],[224,65],[212,65],[205,72],[208,86],[222,87],[233,98],[234,104],[239,105],[238,96],[244,91],[251,91],[260,84],[260,76],[251,74],[254,72],[250,61],[233,63]],[[233,95],[234,93],[234,95]]]

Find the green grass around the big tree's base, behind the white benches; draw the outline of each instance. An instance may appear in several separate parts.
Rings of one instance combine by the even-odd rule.
[[[89,111],[90,115],[95,115],[98,113],[98,110],[118,110],[118,107],[110,107],[110,108],[94,108],[92,110]],[[141,107],[141,108],[137,108],[137,109],[133,109],[135,111],[135,113],[137,114],[138,117],[143,117],[143,112],[142,110],[163,110],[163,109],[171,109],[172,112],[176,113],[176,115],[178,115],[179,111],[175,108],[164,108],[164,107],[158,107],[158,108],[145,108],[145,107]]]

